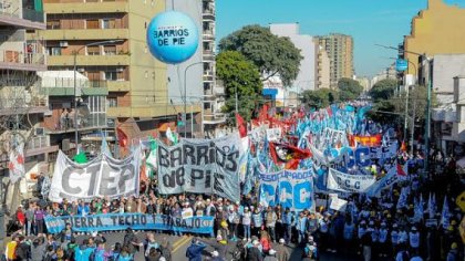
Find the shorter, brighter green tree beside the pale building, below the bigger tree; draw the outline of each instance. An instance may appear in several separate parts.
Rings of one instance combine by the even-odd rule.
[[[249,121],[257,104],[261,102],[262,82],[258,67],[236,51],[221,52],[216,56],[216,75],[225,85],[226,102],[223,112],[234,118],[236,91],[238,111],[244,119]],[[228,121],[232,124],[234,121]]]

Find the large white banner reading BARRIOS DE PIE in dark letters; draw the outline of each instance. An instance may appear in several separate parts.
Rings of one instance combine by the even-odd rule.
[[[158,186],[163,195],[214,194],[240,199],[239,134],[218,139],[182,139],[175,146],[158,146]]]

